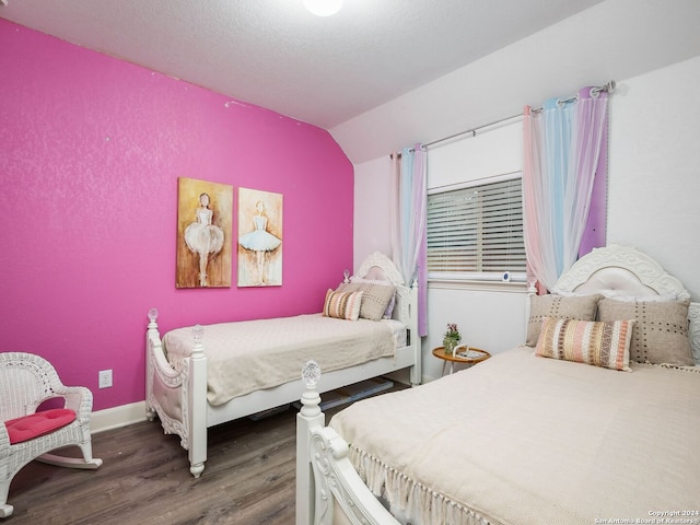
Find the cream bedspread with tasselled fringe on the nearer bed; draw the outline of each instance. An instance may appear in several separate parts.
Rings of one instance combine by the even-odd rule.
[[[375,494],[421,503],[413,523],[700,523],[654,514],[700,511],[697,372],[517,348],[357,402],[330,425]]]

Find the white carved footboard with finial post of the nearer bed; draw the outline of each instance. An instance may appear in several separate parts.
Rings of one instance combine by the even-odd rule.
[[[325,427],[316,384],[320,369],[302,371],[306,392],[296,416],[296,525],[399,525],[374,498],[348,458],[348,443]]]

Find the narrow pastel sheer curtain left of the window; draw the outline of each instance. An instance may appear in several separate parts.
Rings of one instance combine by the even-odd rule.
[[[408,285],[418,281],[418,335],[423,337],[428,335],[425,151],[416,144],[392,159],[392,257]]]

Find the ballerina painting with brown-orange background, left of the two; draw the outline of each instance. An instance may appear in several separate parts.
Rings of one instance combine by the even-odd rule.
[[[178,180],[177,288],[231,287],[233,187]]]

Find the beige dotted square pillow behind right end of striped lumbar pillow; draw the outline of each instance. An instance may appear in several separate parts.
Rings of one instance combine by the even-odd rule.
[[[630,360],[638,363],[692,366],[688,337],[690,301],[617,301],[598,304],[598,319],[637,319],[630,343]]]

